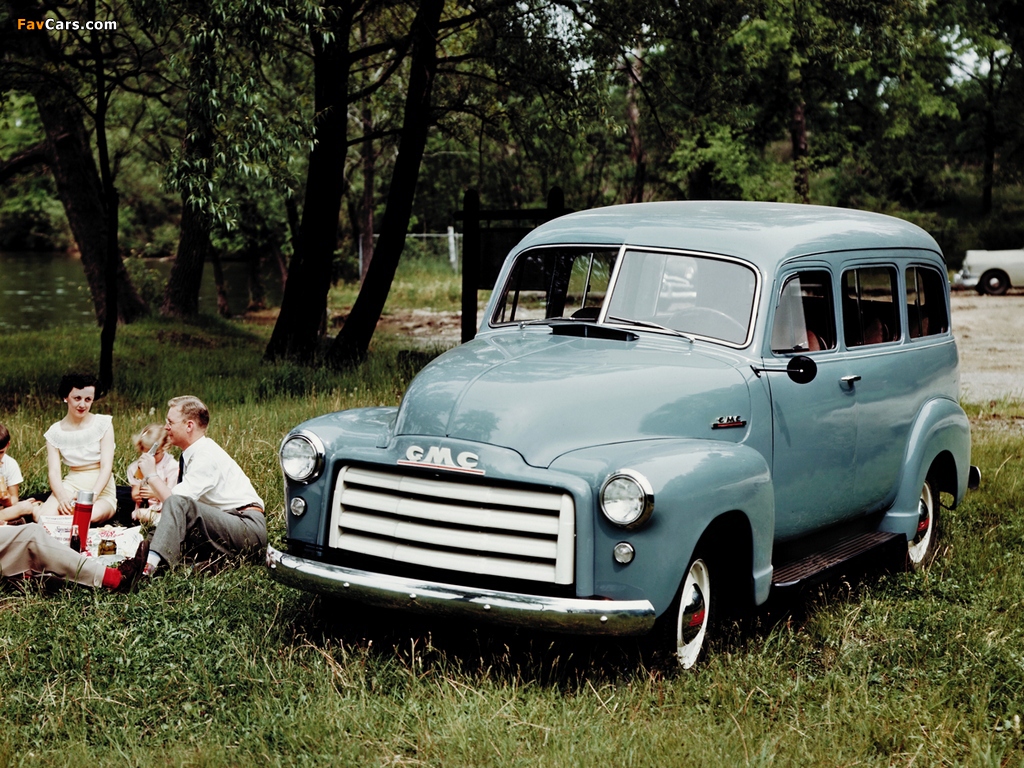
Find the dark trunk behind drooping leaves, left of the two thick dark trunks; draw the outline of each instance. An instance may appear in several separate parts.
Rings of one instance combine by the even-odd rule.
[[[203,5],[208,5],[203,3]],[[204,14],[197,11],[197,16]],[[206,93],[217,80],[214,36],[204,29],[205,22],[194,29],[197,41],[188,62],[188,101],[185,105],[185,138],[181,154],[195,177],[185,181],[181,191],[181,227],[178,252],[174,256],[171,274],[164,291],[160,313],[172,317],[195,317],[199,314],[199,292],[203,285],[203,265],[210,253],[210,228],[213,220],[208,207],[196,200],[196,191],[209,194],[213,179],[213,125],[206,103]],[[195,34],[197,33],[198,34]]]

